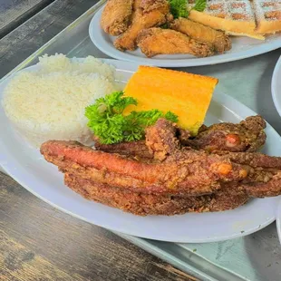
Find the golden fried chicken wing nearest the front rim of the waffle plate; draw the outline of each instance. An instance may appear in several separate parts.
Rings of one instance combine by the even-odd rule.
[[[201,43],[171,29],[150,28],[140,32],[137,44],[147,57],[157,54],[190,53],[198,57],[214,54],[211,44]]]

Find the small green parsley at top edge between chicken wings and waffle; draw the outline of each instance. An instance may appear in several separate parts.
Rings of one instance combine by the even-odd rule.
[[[169,2],[170,13],[173,15],[174,18],[189,17],[189,10],[187,7],[187,5],[189,4],[188,0],[169,0]],[[191,8],[191,10],[203,12],[206,8],[206,5],[207,0],[196,0],[195,5]]]

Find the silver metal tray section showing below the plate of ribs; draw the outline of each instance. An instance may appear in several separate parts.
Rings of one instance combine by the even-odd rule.
[[[218,243],[175,244],[121,237],[200,280],[281,280],[281,248],[275,223],[253,235]]]

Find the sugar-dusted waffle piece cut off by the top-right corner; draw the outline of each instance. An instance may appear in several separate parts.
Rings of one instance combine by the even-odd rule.
[[[281,31],[281,0],[253,0],[258,34]]]

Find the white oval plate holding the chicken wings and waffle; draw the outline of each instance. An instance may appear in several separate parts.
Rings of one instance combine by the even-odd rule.
[[[90,38],[102,53],[122,61],[166,67],[199,66],[242,60],[281,47],[281,34],[268,36],[266,41],[247,37],[232,37],[232,49],[230,51],[207,58],[196,58],[189,54],[157,55],[153,58],[147,58],[140,52],[140,49],[133,52],[121,52],[113,46],[116,37],[104,33],[101,28],[102,9],[103,7],[92,17],[89,26]]]

